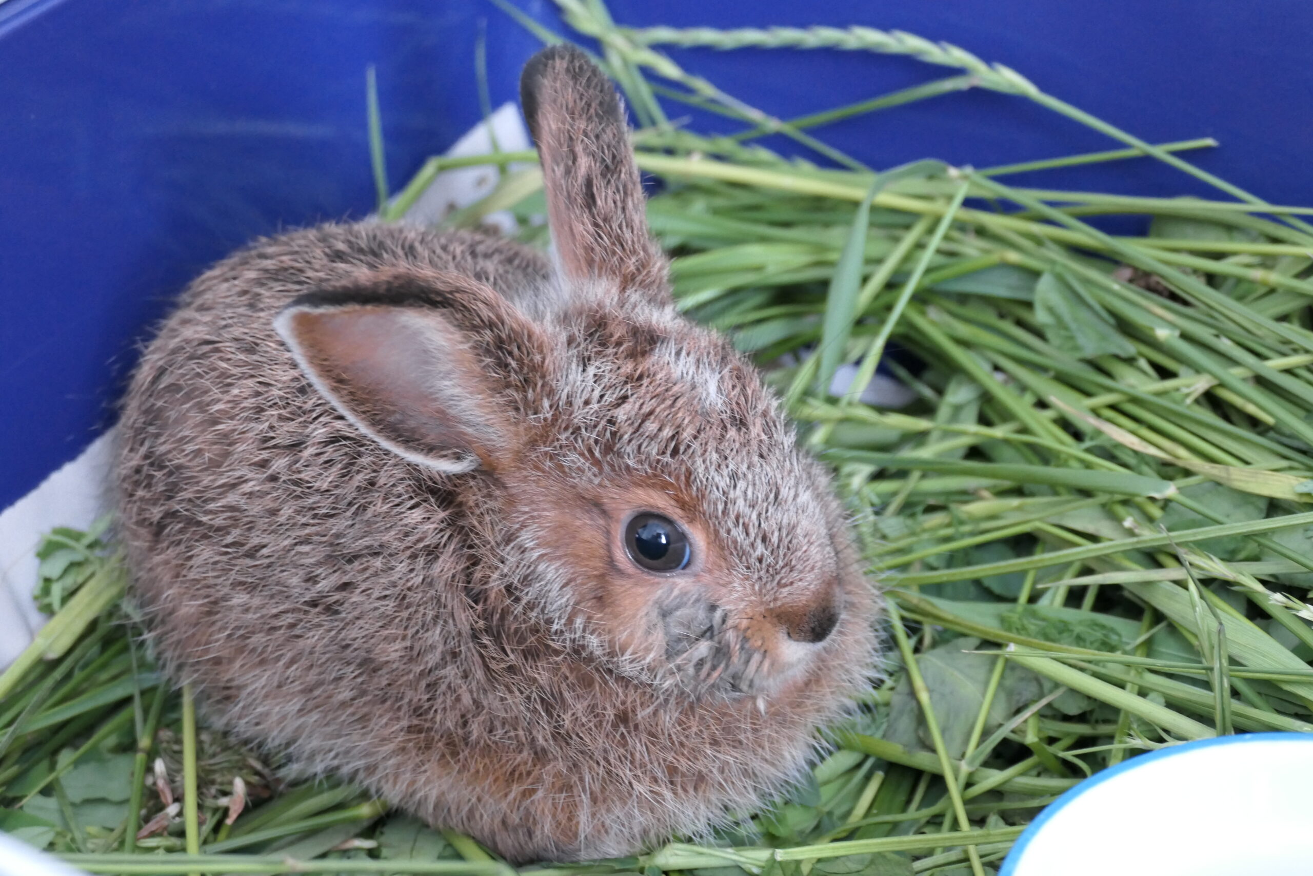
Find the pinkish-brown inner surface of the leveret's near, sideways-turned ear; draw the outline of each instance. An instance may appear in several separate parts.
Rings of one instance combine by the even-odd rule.
[[[454,471],[498,445],[478,361],[440,314],[419,307],[295,310],[288,331],[318,389],[389,449]]]

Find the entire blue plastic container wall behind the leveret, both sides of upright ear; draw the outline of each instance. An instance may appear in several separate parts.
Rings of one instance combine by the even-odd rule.
[[[550,3],[516,1],[561,29]],[[1148,139],[1217,137],[1201,165],[1313,204],[1309,3],[616,0],[612,12],[634,25],[865,24],[947,39]],[[0,507],[112,423],[134,344],[188,278],[255,235],[369,211],[366,66],[378,67],[393,185],[474,125],[483,28],[500,104],[537,43],[487,0],[0,3]],[[672,54],[784,117],[952,72],[843,53]],[[1109,147],[978,91],[823,137],[877,167]],[[1205,193],[1145,160],[1031,181]]]

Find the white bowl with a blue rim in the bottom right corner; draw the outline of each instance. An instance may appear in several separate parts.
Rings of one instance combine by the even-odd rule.
[[[1137,873],[1313,873],[1313,734],[1201,739],[1095,774],[1031,822],[999,871]]]

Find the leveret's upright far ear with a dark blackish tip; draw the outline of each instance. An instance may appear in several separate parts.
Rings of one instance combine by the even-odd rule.
[[[551,46],[525,64],[520,102],[538,146],[565,276],[611,281],[622,296],[666,294],[666,260],[647,231],[625,112],[611,81],[574,46]]]

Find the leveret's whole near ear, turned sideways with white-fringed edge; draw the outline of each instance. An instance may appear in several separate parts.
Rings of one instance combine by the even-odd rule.
[[[548,359],[533,324],[458,274],[389,273],[305,294],[274,328],[361,432],[450,474],[515,458],[515,399]]]

